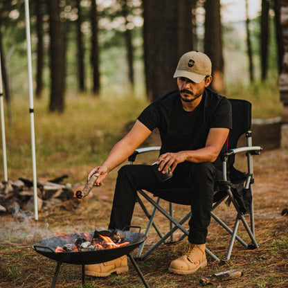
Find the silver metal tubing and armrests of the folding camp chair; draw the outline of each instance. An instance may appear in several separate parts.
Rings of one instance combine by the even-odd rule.
[[[138,154],[145,153],[145,152],[151,152],[151,151],[157,151],[157,150],[160,150],[159,146],[140,148],[140,149],[136,150],[134,152],[134,154],[132,154],[132,156],[129,157],[129,164],[132,165],[134,163],[136,156]],[[250,212],[250,226],[249,226],[249,224],[246,222],[246,219],[245,219],[243,213],[240,211],[240,208],[237,205],[235,198],[233,197],[233,193],[231,192],[230,186],[228,185],[228,190],[227,190],[228,196],[230,197],[230,199],[233,203],[233,206],[235,207],[235,210],[237,211],[237,216],[235,219],[235,224],[233,226],[233,230],[231,228],[229,228],[221,219],[219,219],[219,217],[217,217],[213,213],[213,210],[217,206],[219,206],[219,204],[221,204],[222,201],[227,196],[225,196],[223,199],[220,199],[215,204],[213,204],[213,208],[211,210],[211,217],[213,217],[213,219],[215,219],[215,221],[219,225],[221,225],[229,234],[231,234],[231,240],[229,242],[225,261],[228,261],[231,258],[231,253],[232,253],[232,249],[233,249],[233,245],[234,245],[235,240],[240,242],[240,244],[242,244],[246,249],[256,249],[259,247],[258,242],[255,240],[255,222],[254,222],[254,210],[253,210],[253,181],[254,181],[254,179],[253,179],[253,155],[260,154],[261,150],[262,150],[262,147],[260,147],[260,146],[252,146],[251,131],[249,131],[249,132],[246,132],[246,147],[240,147],[240,148],[235,148],[233,150],[228,150],[227,152],[224,152],[222,155],[223,181],[224,181],[224,183],[228,184],[229,182],[228,182],[228,179],[226,176],[227,175],[228,156],[235,155],[235,154],[240,153],[240,152],[246,152],[248,177],[246,179],[245,188],[246,189],[250,188],[251,189],[251,195],[252,195],[251,212]],[[156,242],[156,244],[154,244],[154,246],[152,246],[152,248],[150,248],[144,255],[141,255],[141,254],[143,253],[143,248],[144,248],[145,242],[143,242],[143,244],[141,244],[141,246],[139,246],[136,258],[143,260],[143,259],[147,258],[147,256],[150,255],[150,253],[152,253],[152,251],[154,251],[162,243],[164,243],[164,244],[169,243],[166,241],[168,239],[168,237],[170,237],[170,242],[175,242],[174,241],[174,232],[177,229],[180,229],[183,232],[183,235],[177,241],[183,240],[183,238],[188,235],[188,231],[186,230],[186,228],[183,228],[182,225],[188,219],[190,219],[192,213],[191,212],[188,213],[179,222],[177,222],[173,218],[174,210],[173,210],[172,202],[169,202],[169,213],[168,213],[159,205],[159,202],[161,199],[160,197],[157,197],[156,201],[154,201],[150,196],[148,196],[145,192],[143,192],[143,190],[138,190],[137,192],[138,192],[138,194],[142,195],[142,197],[144,197],[147,201],[149,201],[150,204],[152,204],[152,206],[154,206],[152,213],[150,214],[147,211],[147,208],[145,207],[145,205],[143,204],[142,199],[137,194],[137,201],[138,201],[139,205],[141,206],[141,208],[143,209],[145,215],[149,219],[149,222],[147,224],[147,228],[145,231],[145,235],[147,236],[150,233],[150,229],[153,226],[156,233],[160,237],[160,240],[158,242]],[[159,227],[154,222],[156,210],[159,210],[159,212],[162,213],[170,221],[170,231],[168,231],[168,233],[166,233],[165,235],[163,235],[161,233]],[[244,242],[244,240],[242,240],[242,238],[239,235],[237,235],[237,229],[238,229],[238,226],[240,224],[240,221],[243,223],[243,225],[246,229],[246,232],[249,234],[249,237],[251,238],[252,244],[246,244],[246,242]],[[206,248],[206,253],[208,253],[208,255],[210,255],[214,260],[220,261],[220,259],[215,254],[213,254],[210,250],[208,250],[207,248]]]

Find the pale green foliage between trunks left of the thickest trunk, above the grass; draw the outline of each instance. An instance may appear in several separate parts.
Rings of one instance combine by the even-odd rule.
[[[36,36],[36,15],[35,1],[30,2],[30,30],[33,60],[33,79],[35,80],[37,64],[37,36]],[[48,15],[44,3],[44,86],[49,87],[49,59],[48,59]],[[134,69],[136,70],[136,80],[141,85],[143,92],[143,39],[142,24],[143,19],[141,1],[128,0],[130,15],[125,18],[121,16],[121,1],[119,0],[98,0],[98,26],[99,26],[99,46],[100,46],[100,73],[102,93],[111,89],[117,91],[119,86],[128,84],[127,61],[124,33],[126,29],[132,30],[134,44]],[[78,11],[75,8],[74,0],[60,1],[62,6],[62,21],[66,31],[66,91],[77,89],[77,46],[76,46],[76,26]],[[82,0],[82,33],[85,50],[85,69],[87,75],[87,89],[91,89],[91,24],[90,24],[90,1]],[[6,55],[8,74],[10,75],[12,96],[18,96],[28,91],[27,73],[27,51],[26,51],[26,23],[24,0],[10,0],[0,3],[0,28],[3,35],[3,51]],[[140,78],[140,79],[139,79]],[[107,85],[110,87],[106,89]],[[136,89],[138,91],[139,89]]]

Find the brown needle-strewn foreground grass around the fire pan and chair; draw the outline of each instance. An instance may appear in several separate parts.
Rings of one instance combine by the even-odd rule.
[[[282,152],[279,154],[283,156]],[[287,159],[287,156],[285,157]],[[258,175],[257,179],[259,179],[260,174],[258,171],[259,167],[260,169],[267,167],[265,164],[267,157],[264,155],[263,158],[264,162],[258,163],[255,166],[256,174]],[[281,163],[281,161],[278,163]],[[285,174],[285,171],[282,170],[280,168],[279,174]],[[265,175],[263,178],[265,178]],[[278,180],[276,179],[276,181]],[[257,183],[255,190],[258,191]],[[99,192],[99,195],[103,191],[105,190]],[[110,192],[106,193],[109,196]],[[275,209],[279,205],[276,201],[277,197],[275,197],[273,199],[275,203],[271,203],[267,209],[261,203],[264,199],[262,195],[264,195],[263,191],[255,194],[255,201],[257,203],[255,210],[258,213],[255,224],[257,239],[260,244],[259,249],[246,250],[236,242],[229,262],[213,262],[213,260],[208,258],[208,267],[206,269],[188,276],[174,276],[167,273],[168,265],[171,260],[177,258],[179,253],[183,251],[186,242],[162,245],[146,260],[138,262],[138,266],[150,287],[201,287],[199,285],[201,278],[229,269],[242,269],[244,275],[233,280],[215,282],[213,285],[209,285],[209,287],[215,288],[219,287],[219,285],[230,288],[287,287],[288,237],[285,232],[287,231],[287,219],[278,217],[277,215],[272,220],[270,217],[269,219],[260,217],[261,209],[264,209],[266,213],[267,210],[270,209],[271,211],[271,208]],[[282,195],[282,192],[279,192],[279,197],[285,197],[285,195],[280,195]],[[83,199],[82,204],[76,209],[64,211],[56,208],[41,211],[37,223],[33,222],[33,219],[15,217],[13,219],[12,215],[2,216],[1,220],[4,225],[0,226],[0,251],[3,269],[0,271],[0,287],[51,287],[56,262],[38,255],[38,253],[30,249],[30,245],[44,237],[51,237],[58,229],[67,233],[69,233],[69,229],[71,232],[72,227],[81,231],[85,228],[92,230],[94,226],[91,224],[100,224],[100,219],[104,220],[103,223],[107,222],[107,214],[109,213],[109,208],[111,208],[110,197],[107,199],[107,205],[105,201],[100,201],[96,196],[90,199]],[[228,218],[228,222],[234,222],[234,218],[231,217],[233,209],[231,207],[224,207],[224,209],[218,210],[218,213],[221,213],[224,218]],[[186,206],[182,206],[182,208],[180,206],[174,207],[176,217],[178,214],[181,215],[183,210],[186,209],[188,209]],[[95,222],[95,219],[98,219],[98,222]],[[134,218],[135,224],[144,225],[143,219],[143,215],[137,209],[136,217]],[[168,225],[168,223],[166,224]],[[161,229],[163,225],[164,223],[161,223]],[[247,239],[241,224],[239,235],[243,235],[244,240]],[[212,251],[216,252],[219,258],[224,259],[227,243],[228,236],[222,230],[219,231],[219,226],[212,223],[208,234],[209,248],[212,248]],[[80,288],[82,287],[80,283],[81,267],[79,265],[62,264],[56,287]],[[129,262],[129,273],[118,276],[112,274],[107,278],[97,279],[86,277],[84,288],[106,287],[141,288],[143,287],[143,283]]]

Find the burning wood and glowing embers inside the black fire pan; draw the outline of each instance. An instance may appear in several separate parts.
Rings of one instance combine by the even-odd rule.
[[[119,231],[95,231],[93,237],[90,233],[81,233],[77,239],[69,235],[60,235],[60,237],[66,241],[66,244],[57,246],[56,253],[114,249],[129,244],[123,242],[125,234],[121,235]]]

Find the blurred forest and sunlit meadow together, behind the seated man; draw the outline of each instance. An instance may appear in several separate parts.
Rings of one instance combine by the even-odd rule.
[[[255,1],[236,2],[246,18],[226,22],[222,15],[233,1],[30,1],[39,175],[48,173],[42,166],[51,173],[61,165],[60,154],[69,166],[103,159],[123,136],[119,127],[176,88],[172,75],[179,57],[193,49],[213,61],[212,89],[250,100],[253,118],[279,118],[280,1],[263,0],[251,19],[249,5]],[[10,177],[30,169],[25,29],[24,0],[1,2]],[[71,115],[75,125],[69,132]]]

